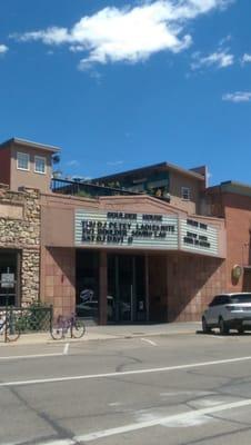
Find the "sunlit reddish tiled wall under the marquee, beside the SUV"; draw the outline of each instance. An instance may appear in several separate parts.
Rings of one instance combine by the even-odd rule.
[[[168,265],[168,320],[200,320],[212,297],[225,291],[225,260],[177,256]]]

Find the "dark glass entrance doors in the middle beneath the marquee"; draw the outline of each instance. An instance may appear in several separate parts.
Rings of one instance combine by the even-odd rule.
[[[108,256],[108,322],[145,320],[144,257]]]

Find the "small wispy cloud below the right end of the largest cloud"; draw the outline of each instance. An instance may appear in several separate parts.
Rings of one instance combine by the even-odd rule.
[[[228,50],[212,52],[209,56],[202,57],[200,52],[193,55],[194,61],[191,63],[192,70],[203,67],[227,68],[234,63],[234,56]]]

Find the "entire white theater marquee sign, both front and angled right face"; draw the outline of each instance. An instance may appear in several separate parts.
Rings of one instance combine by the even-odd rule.
[[[218,255],[218,230],[160,214],[76,211],[76,246],[187,250]]]

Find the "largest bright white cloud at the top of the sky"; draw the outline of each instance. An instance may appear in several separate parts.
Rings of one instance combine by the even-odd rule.
[[[180,52],[192,43],[187,22],[198,16],[228,7],[232,0],[144,0],[135,7],[104,8],[81,18],[71,29],[48,28],[12,36],[20,41],[68,44],[83,51],[80,69],[94,62],[137,62],[169,50]]]

